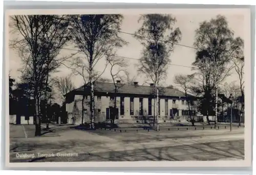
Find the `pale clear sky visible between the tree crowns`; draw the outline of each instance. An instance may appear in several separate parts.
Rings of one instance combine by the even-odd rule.
[[[172,14],[176,17],[177,22],[175,27],[179,27],[182,32],[182,39],[179,42],[180,45],[185,45],[189,47],[193,47],[193,43],[195,40],[195,30],[199,28],[199,25],[204,20],[210,20],[211,18],[215,18],[218,14],[221,13],[205,13],[205,14]],[[123,22],[121,25],[121,31],[127,33],[134,33],[141,27],[141,23],[138,23],[140,15],[124,15]],[[242,37],[244,39],[244,28],[242,27],[244,24],[244,16],[240,14],[225,14],[225,17],[228,21],[228,26],[234,32],[235,37]],[[239,25],[238,25],[239,24]],[[140,44],[138,40],[136,40],[132,35],[119,33],[119,36],[124,40],[129,42],[128,45],[120,48],[117,51],[118,56],[129,57],[133,59],[125,58],[125,60],[129,63],[129,67],[127,67],[127,71],[131,74],[131,77],[135,76],[136,81],[139,84],[142,84],[145,81],[144,75],[138,75],[137,68],[135,64],[138,63],[136,59],[139,59],[141,56],[141,50],[143,46]],[[13,39],[17,36],[10,36],[10,39]],[[65,48],[75,49],[74,45],[70,43]],[[62,49],[59,57],[68,56],[75,51],[71,51],[68,49]],[[15,50],[9,50],[9,65],[10,65],[10,75],[14,78],[18,78],[20,76],[20,72],[18,69],[21,67],[22,62],[19,58],[18,54]],[[174,65],[168,65],[167,77],[166,80],[162,82],[163,85],[174,85],[173,79],[176,74],[191,74],[191,63],[195,61],[195,53],[196,50],[192,48],[187,48],[183,46],[176,45],[174,47],[174,52],[170,54],[171,63]],[[81,55],[82,56],[82,55]],[[99,61],[97,63],[96,69],[102,70],[104,68],[105,61]],[[55,73],[53,76],[66,76],[71,74],[71,70],[66,68],[65,66],[59,68],[58,73]],[[238,75],[234,70],[231,71],[232,75],[228,77],[225,81],[231,82],[238,80]],[[111,78],[109,67],[105,70],[102,75],[103,78]],[[83,84],[82,77],[74,76],[72,78],[76,88]],[[151,83],[151,82],[150,82]]]

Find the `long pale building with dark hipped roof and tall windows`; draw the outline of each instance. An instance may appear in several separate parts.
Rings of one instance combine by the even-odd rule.
[[[144,119],[156,116],[156,104],[154,84],[139,85],[122,84],[117,81],[117,93],[114,83],[96,82],[94,84],[95,95],[95,122],[105,122],[110,120],[113,110],[114,99],[116,106],[118,123],[140,123]],[[66,112],[68,124],[81,124],[82,119],[82,97],[84,95],[83,123],[90,122],[90,87],[81,86],[66,94]],[[193,96],[189,95],[189,99]],[[193,115],[196,115],[196,107],[190,105]],[[187,120],[188,101],[185,93],[171,88],[159,88],[159,122],[171,122],[177,120]],[[144,119],[142,120],[141,117]]]

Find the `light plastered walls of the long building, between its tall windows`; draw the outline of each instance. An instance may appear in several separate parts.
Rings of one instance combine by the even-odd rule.
[[[81,95],[75,95],[76,103],[73,101],[69,104],[66,104],[66,111],[68,112],[68,123],[72,124],[72,121],[74,118],[75,122],[73,124],[81,124],[81,116],[82,116],[82,105]],[[90,122],[90,107],[89,102],[90,96],[87,97],[87,99],[84,100],[84,108],[87,109],[87,113],[84,114],[83,122]],[[139,116],[139,98],[134,98],[134,116],[130,115],[130,97],[124,98],[124,115],[120,116],[120,97],[117,97],[117,107],[118,107],[118,115],[119,115],[119,123],[137,123]],[[184,102],[182,104],[182,100],[176,99],[176,104],[179,107],[179,115],[181,116],[181,110],[187,110],[188,105]],[[110,106],[110,97],[101,96],[100,100],[97,99],[97,96],[95,96],[95,109],[96,113],[98,109],[100,110],[100,113],[95,113],[95,122],[103,122],[106,119],[106,108],[109,108]],[[155,114],[157,111],[157,106],[155,106]],[[160,99],[160,115],[159,115],[159,122],[170,122],[170,109],[173,108],[173,100],[168,99],[168,115],[165,116],[165,99]],[[148,98],[143,98],[143,115],[148,115]],[[154,99],[152,99],[152,116],[154,115]],[[139,121],[141,122],[141,121]]]

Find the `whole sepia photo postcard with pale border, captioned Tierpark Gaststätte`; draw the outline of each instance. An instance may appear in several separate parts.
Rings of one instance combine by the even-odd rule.
[[[248,9],[24,11],[6,17],[9,163],[250,159]]]

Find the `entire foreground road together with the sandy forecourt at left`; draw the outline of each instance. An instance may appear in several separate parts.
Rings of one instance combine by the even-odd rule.
[[[34,155],[21,158],[20,155]],[[243,129],[119,133],[61,130],[54,137],[16,138],[10,162],[242,160]]]

